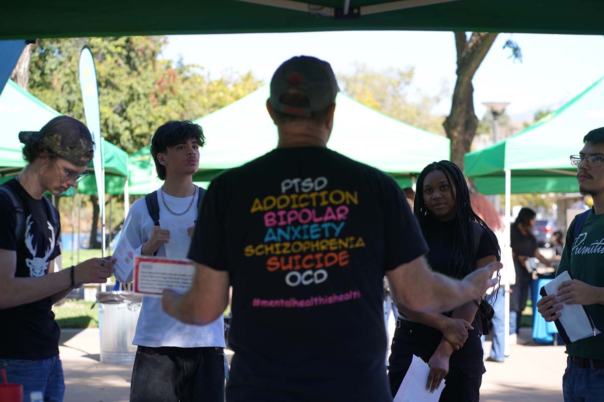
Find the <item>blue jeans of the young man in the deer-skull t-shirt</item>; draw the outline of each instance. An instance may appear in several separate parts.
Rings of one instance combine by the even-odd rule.
[[[65,394],[63,366],[59,356],[50,359],[22,360],[0,359],[9,383],[23,386],[24,401],[29,402],[31,392],[42,392],[44,402],[62,402]]]

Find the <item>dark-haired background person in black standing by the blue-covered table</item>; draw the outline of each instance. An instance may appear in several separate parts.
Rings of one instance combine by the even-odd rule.
[[[535,257],[546,266],[551,265],[550,260],[539,253],[537,240],[533,235],[535,217],[535,211],[522,208],[510,227],[510,246],[516,271],[516,283],[510,286],[510,341],[513,343],[520,330],[522,311],[527,305],[528,288],[533,280],[533,274],[527,268],[528,259]]]

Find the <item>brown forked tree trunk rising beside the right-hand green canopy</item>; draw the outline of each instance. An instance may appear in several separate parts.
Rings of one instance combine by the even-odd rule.
[[[474,87],[472,78],[484,60],[496,33],[474,32],[469,39],[463,32],[455,32],[457,48],[457,81],[451,102],[451,114],[443,123],[451,140],[451,162],[463,171],[463,156],[470,151],[478,127],[474,114]]]

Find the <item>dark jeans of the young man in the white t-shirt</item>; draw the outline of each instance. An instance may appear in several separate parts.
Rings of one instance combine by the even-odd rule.
[[[224,388],[222,348],[138,347],[130,402],[223,402]]]

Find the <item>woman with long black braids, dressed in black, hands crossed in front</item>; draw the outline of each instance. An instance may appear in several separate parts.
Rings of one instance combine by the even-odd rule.
[[[472,210],[466,180],[452,162],[426,166],[417,178],[414,215],[434,271],[454,278],[500,259],[493,231]],[[396,395],[413,355],[430,366],[426,388],[432,392],[446,381],[440,401],[478,402],[483,365],[480,342],[480,300],[443,314],[418,313],[399,307],[391,347],[388,378]]]

